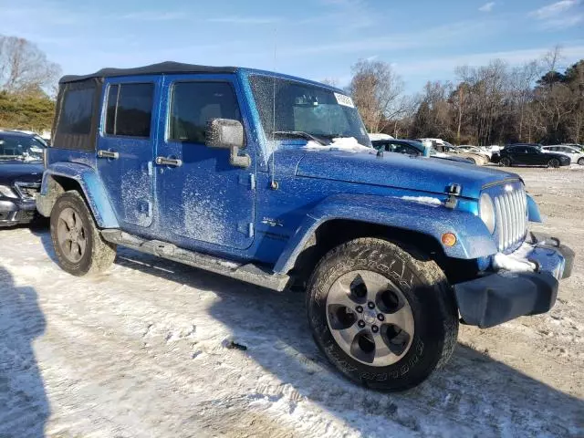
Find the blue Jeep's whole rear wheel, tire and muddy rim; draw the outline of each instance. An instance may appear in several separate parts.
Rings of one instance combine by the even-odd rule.
[[[69,274],[97,274],[110,267],[116,257],[116,245],[103,240],[85,200],[76,191],[57,199],[50,229],[58,264]]]

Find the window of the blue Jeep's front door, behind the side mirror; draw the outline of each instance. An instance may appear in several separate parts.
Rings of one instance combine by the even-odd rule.
[[[169,140],[204,143],[207,121],[241,121],[235,91],[227,82],[177,82],[172,86]]]

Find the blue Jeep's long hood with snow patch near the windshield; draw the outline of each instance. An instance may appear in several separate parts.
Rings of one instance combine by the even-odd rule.
[[[477,199],[485,185],[520,178],[515,173],[470,163],[412,157],[400,153],[303,151],[297,176],[382,185],[425,193],[447,193],[452,183],[462,186],[461,195]]]

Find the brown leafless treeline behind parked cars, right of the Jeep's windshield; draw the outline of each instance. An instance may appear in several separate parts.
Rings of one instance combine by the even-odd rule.
[[[349,86],[371,132],[437,137],[455,144],[584,142],[584,59],[558,71],[558,48],[510,68],[501,60],[455,68],[456,81],[402,93],[391,66],[360,61]]]

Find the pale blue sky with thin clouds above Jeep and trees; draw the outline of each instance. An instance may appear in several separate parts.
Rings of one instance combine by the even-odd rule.
[[[165,60],[264,68],[348,85],[360,58],[405,90],[500,58],[562,47],[584,58],[584,0],[0,0],[0,34],[22,36],[64,74]]]

